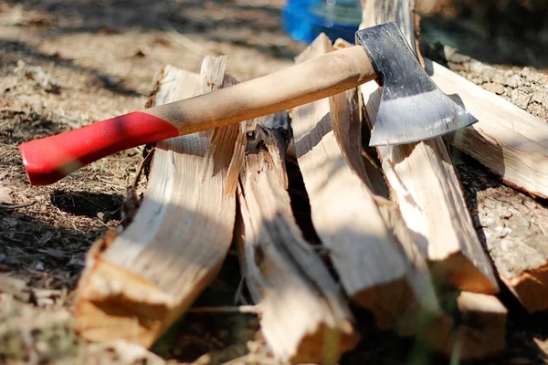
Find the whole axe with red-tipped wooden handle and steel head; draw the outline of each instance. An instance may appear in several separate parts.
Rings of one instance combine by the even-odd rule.
[[[359,30],[356,43],[227,89],[23,143],[30,183],[55,183],[118,151],[288,110],[374,79],[383,95],[371,146],[427,140],[478,121],[437,88],[395,23]]]

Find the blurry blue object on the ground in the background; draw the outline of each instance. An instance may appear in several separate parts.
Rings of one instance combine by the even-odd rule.
[[[362,5],[360,0],[288,0],[281,20],[283,29],[300,42],[309,44],[323,32],[333,42],[343,38],[355,43]]]

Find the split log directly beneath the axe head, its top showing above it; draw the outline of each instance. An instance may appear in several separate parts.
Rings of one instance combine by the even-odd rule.
[[[363,0],[362,4],[361,27],[395,21],[414,47],[413,1]],[[366,119],[372,125],[382,91],[373,82],[364,84],[360,90]],[[435,280],[461,290],[497,293],[497,281],[473,228],[442,139],[382,146],[378,152],[393,197],[431,262]]]

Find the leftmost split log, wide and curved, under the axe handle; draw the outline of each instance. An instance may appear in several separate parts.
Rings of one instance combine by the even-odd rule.
[[[151,104],[229,86],[225,65],[226,57],[206,57],[201,77],[166,66]],[[237,173],[229,172],[237,169],[230,165],[243,159],[234,153],[244,131],[228,128],[157,143],[132,224],[90,249],[75,303],[82,337],[150,347],[214,279],[236,217]]]

